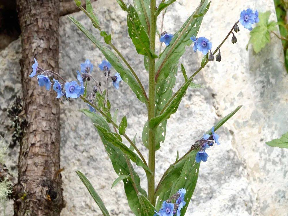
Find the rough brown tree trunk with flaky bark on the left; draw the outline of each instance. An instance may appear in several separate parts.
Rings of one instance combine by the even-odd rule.
[[[39,67],[58,71],[59,0],[17,0],[21,28],[21,78],[27,121],[20,143],[15,216],[59,216],[64,206],[60,175],[59,101],[52,89],[30,78]]]

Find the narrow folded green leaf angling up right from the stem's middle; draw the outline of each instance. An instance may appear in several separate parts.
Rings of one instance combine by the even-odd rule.
[[[170,102],[170,104],[167,106],[167,108],[164,110],[164,112],[161,115],[158,115],[158,116],[156,116],[150,120],[150,122],[149,122],[150,128],[154,128],[154,127],[158,126],[158,124],[160,124],[164,120],[170,118],[170,115],[172,115],[173,113],[175,113],[177,111],[178,106],[179,106],[183,96],[185,95],[186,90],[189,87],[192,79],[193,79],[193,77],[191,77],[190,79],[187,80],[187,82],[185,82],[185,84],[181,87],[178,94]]]

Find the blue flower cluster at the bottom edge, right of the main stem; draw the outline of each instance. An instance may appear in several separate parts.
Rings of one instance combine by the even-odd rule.
[[[181,215],[181,209],[183,206],[185,206],[186,202],[184,201],[186,190],[185,188],[181,188],[176,194],[171,196],[170,199],[164,200],[162,204],[162,208],[159,210],[159,212],[155,211],[154,216],[180,216]],[[175,201],[173,203],[172,201]]]

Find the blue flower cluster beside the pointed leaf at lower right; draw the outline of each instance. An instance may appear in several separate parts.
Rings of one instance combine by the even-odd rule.
[[[217,145],[220,145],[218,139],[219,135],[214,132],[214,127],[211,129],[212,134],[204,134],[202,139],[198,140],[200,142],[200,151],[196,154],[196,162],[199,163],[200,161],[207,161],[209,155],[205,152],[206,149],[210,148],[214,142]]]

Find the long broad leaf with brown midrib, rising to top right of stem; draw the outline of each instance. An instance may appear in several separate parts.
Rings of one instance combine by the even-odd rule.
[[[170,68],[178,62],[179,58],[184,54],[185,48],[192,44],[190,37],[197,35],[203,15],[207,12],[209,6],[210,2],[208,3],[208,0],[201,0],[195,12],[186,20],[179,31],[175,33],[169,46],[166,46],[161,57],[156,62],[157,82],[162,82],[163,79],[168,77]]]

